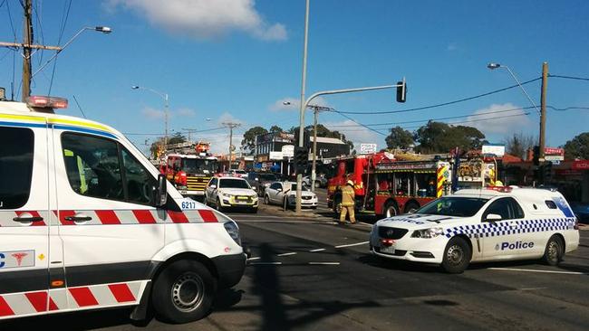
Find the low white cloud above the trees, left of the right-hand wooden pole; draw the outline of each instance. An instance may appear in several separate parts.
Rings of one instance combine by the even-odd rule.
[[[532,123],[530,118],[525,115],[527,111],[519,109],[518,106],[512,103],[502,105],[493,104],[486,109],[476,110],[473,115],[478,116],[469,116],[467,118],[467,120],[476,120],[476,122],[465,123],[465,125],[478,128],[485,135],[520,132]]]

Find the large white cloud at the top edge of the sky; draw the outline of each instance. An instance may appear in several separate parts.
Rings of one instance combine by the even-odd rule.
[[[254,0],[107,0],[105,5],[110,12],[123,7],[169,33],[197,39],[213,39],[231,31],[265,41],[287,38],[285,25],[268,24],[256,11]]]

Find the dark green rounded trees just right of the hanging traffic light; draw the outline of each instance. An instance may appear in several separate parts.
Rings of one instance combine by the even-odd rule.
[[[420,153],[448,153],[451,148],[462,150],[479,149],[487,142],[478,128],[450,126],[446,123],[430,121],[415,132],[415,140],[420,143],[416,150]]]

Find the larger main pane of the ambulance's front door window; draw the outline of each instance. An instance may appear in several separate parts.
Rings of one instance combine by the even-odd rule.
[[[62,147],[65,170],[74,192],[96,198],[124,200],[116,142],[64,133]]]

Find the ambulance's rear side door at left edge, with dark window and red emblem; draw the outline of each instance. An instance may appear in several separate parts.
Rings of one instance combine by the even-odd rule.
[[[46,131],[44,120],[0,124],[0,318],[56,308],[47,298],[52,176]]]

